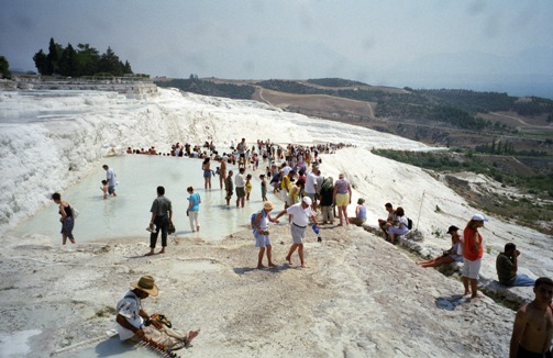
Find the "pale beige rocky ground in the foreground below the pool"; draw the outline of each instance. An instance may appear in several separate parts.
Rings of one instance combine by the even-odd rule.
[[[201,327],[186,356],[507,356],[513,311],[463,298],[458,280],[419,268],[379,236],[323,226],[317,243],[309,232],[301,269],[297,256],[284,264],[288,227],[270,232],[279,266],[263,270],[248,230],[220,243],[176,237],[153,257],[143,256],[144,238],[64,248],[49,238],[2,237],[2,351],[9,356],[7,343],[29,332],[11,346],[19,357],[102,336],[129,283],[150,273],[161,293],[144,301],[146,311],[177,328]]]

